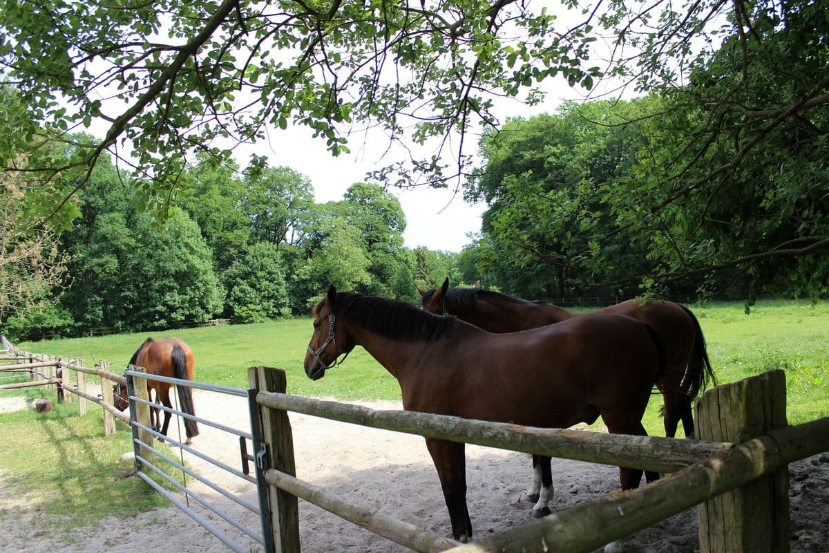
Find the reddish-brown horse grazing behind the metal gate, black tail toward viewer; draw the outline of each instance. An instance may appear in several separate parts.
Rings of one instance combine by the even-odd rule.
[[[170,378],[179,378],[182,380],[193,380],[193,352],[187,344],[179,338],[147,338],[138,351],[133,354],[132,359],[129,360],[130,365],[143,366],[147,369],[150,375],[167,376]],[[170,388],[172,384],[167,382],[159,382],[149,380],[147,381],[148,394],[152,400],[153,390],[155,390],[155,402],[165,405],[168,409],[172,409],[172,402],[170,401]],[[189,386],[176,386],[178,390],[178,400],[183,412],[188,415],[196,415],[196,410],[193,407],[193,392]],[[129,405],[127,397],[126,386],[116,384],[113,386],[113,395],[115,397],[115,406],[120,410],[124,410]],[[170,424],[171,414],[164,411],[164,424],[160,424],[158,419],[158,408],[153,407],[150,410],[150,423],[156,432],[167,435],[167,428]],[[198,424],[195,420],[184,419],[184,427],[187,432],[187,444],[190,444],[192,438],[199,434]]]

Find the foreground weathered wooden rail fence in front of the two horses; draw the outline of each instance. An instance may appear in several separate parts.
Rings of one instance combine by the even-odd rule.
[[[267,452],[262,470],[269,484],[269,517],[279,553],[300,551],[298,498],[414,551],[593,551],[699,505],[701,553],[786,553],[787,465],[829,449],[829,418],[797,426],[786,424],[783,371],[706,392],[696,403],[702,441],[535,429],[444,415],[370,410],[286,395],[284,372],[269,367],[251,367],[249,380],[254,434],[261,436]],[[353,504],[298,480],[288,411],[430,438],[670,474],[637,490],[614,492],[462,545],[387,517],[376,507]]]

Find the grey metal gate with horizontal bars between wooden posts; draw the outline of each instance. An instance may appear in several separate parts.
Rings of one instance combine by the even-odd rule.
[[[177,378],[169,378],[167,376],[156,376],[146,374],[143,371],[136,371],[134,370],[133,366],[129,366],[128,370],[124,372],[124,375],[127,377],[127,391],[129,396],[129,418],[131,421],[132,429],[133,429],[133,448],[135,451],[135,470],[138,474],[139,478],[142,478],[144,482],[148,483],[152,488],[154,488],[157,492],[162,494],[162,496],[167,497],[170,502],[174,505],[179,507],[182,512],[187,514],[191,517],[194,521],[196,521],[201,526],[204,526],[207,531],[210,531],[211,534],[216,536],[220,541],[222,541],[225,546],[228,546],[230,550],[236,551],[236,553],[250,553],[251,551],[264,551],[264,553],[271,553],[274,551],[274,544],[273,544],[273,532],[271,531],[271,521],[270,521],[270,513],[269,513],[269,503],[267,501],[267,483],[264,481],[264,472],[259,466],[261,463],[256,463],[257,458],[260,458],[261,455],[252,455],[249,454],[249,451],[254,451],[254,447],[248,447],[248,444],[262,444],[262,440],[260,439],[261,431],[258,428],[259,426],[259,418],[258,417],[250,417],[250,402],[248,398],[248,390],[242,390],[240,388],[231,388],[229,386],[217,386],[213,384],[206,384],[204,382],[196,382],[196,381],[187,381]],[[253,430],[251,432],[231,428],[225,424],[218,423],[212,420],[202,419],[200,417],[189,415],[187,413],[182,412],[181,410],[177,409],[170,409],[165,407],[164,405],[157,405],[153,404],[148,400],[143,400],[138,398],[134,394],[133,388],[133,379],[134,378],[145,378],[148,381],[159,381],[159,382],[167,382],[169,384],[174,384],[176,386],[185,386],[191,389],[196,390],[205,390],[210,392],[211,394],[220,394],[220,395],[229,395],[229,396],[238,396],[240,398],[244,398],[240,401],[240,405],[244,405],[245,412],[248,413],[249,417],[248,420],[252,421],[249,424],[252,424]],[[176,395],[177,397],[177,395]],[[217,396],[219,397],[219,396]],[[244,402],[244,403],[243,403]],[[136,418],[136,406],[139,404],[148,405],[150,408],[158,408],[159,410],[163,410],[167,413],[171,413],[172,415],[177,415],[182,418],[195,420],[197,423],[210,427],[211,429],[215,429],[221,433],[232,434],[235,438],[238,439],[238,447],[239,447],[239,468],[235,468],[225,461],[221,461],[216,458],[212,458],[209,455],[203,454],[197,449],[191,447],[190,445],[183,444],[182,441],[177,439],[172,439],[168,436],[161,434],[153,430],[152,428],[148,428],[148,426],[140,423]],[[177,405],[177,403],[175,404]],[[161,415],[159,412],[158,415]],[[171,423],[176,421],[175,418],[172,419]],[[171,429],[168,429],[167,434],[173,434],[172,426],[170,425]],[[250,426],[249,426],[250,428]],[[139,430],[143,430],[144,433],[141,433]],[[240,483],[243,488],[245,484],[250,484],[247,488],[249,492],[255,492],[256,499],[254,502],[248,501],[243,497],[240,497],[240,492],[234,491],[231,492],[225,488],[222,488],[218,484],[211,482],[209,478],[202,476],[196,471],[188,468],[186,463],[184,463],[183,454],[182,458],[174,459],[170,455],[164,454],[162,451],[159,451],[157,448],[154,447],[154,444],[147,444],[145,440],[141,439],[139,434],[152,435],[158,440],[162,440],[170,444],[173,448],[180,449],[182,452],[187,452],[187,454],[191,455],[191,461],[194,459],[197,460],[199,463],[207,463],[208,466],[220,470],[222,473],[229,473],[238,478],[238,482]],[[153,441],[152,439],[148,441]],[[261,449],[261,445],[259,446]],[[162,458],[164,461],[172,465],[177,471],[182,473],[182,479],[184,480],[185,484],[179,483],[177,478],[173,478],[170,474],[165,473],[162,468],[159,468],[156,463],[153,462],[152,456],[148,456],[151,458],[145,458],[143,455],[143,451],[152,452],[153,455],[157,456],[158,458]],[[254,468],[254,475],[251,475],[251,463],[253,462]],[[158,484],[153,478],[150,477],[151,474],[155,474],[158,477],[162,478],[164,481],[169,483],[173,488],[177,488],[180,492],[184,494],[184,499],[177,497],[176,494],[170,492],[169,490],[163,488],[160,484]],[[187,488],[187,478],[192,478],[199,483],[206,486],[210,490],[221,494],[221,497],[216,497],[215,500],[209,500],[199,492],[195,492],[194,490]],[[263,501],[264,497],[264,501]],[[204,507],[207,511],[212,512],[216,517],[221,519],[221,521],[217,521],[216,523],[207,519],[207,517],[200,512],[197,512],[194,506],[191,506],[191,501],[194,500],[195,502],[199,503],[201,507]],[[221,501],[221,505],[219,504]],[[259,518],[259,526],[256,530],[250,528],[250,524],[245,524],[242,521],[239,521],[239,515],[233,515],[228,512],[228,508],[225,507],[225,504],[230,506],[234,506],[236,510],[240,510],[244,514],[247,512],[254,513],[256,517]],[[239,509],[240,507],[240,509]],[[248,516],[250,517],[250,515]],[[225,529],[223,530],[220,526],[223,526]],[[235,529],[235,531],[231,531]],[[235,533],[236,536],[229,536],[229,532]],[[246,536],[246,537],[245,537]],[[242,543],[241,541],[246,541],[247,543]]]

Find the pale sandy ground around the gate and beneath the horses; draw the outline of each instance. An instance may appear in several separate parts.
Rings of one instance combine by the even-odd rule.
[[[196,390],[196,413],[208,420],[247,429],[245,400]],[[373,409],[400,409],[397,402],[362,402]],[[3,405],[20,408],[26,405]],[[94,407],[93,407],[94,408]],[[293,427],[297,476],[329,491],[387,515],[450,536],[448,512],[437,473],[418,436],[367,429],[305,415],[290,414]],[[171,434],[177,429],[171,424]],[[183,432],[183,429],[182,429]],[[240,466],[238,438],[201,427],[195,447],[234,467]],[[222,487],[255,502],[249,483],[186,455],[197,471]],[[829,551],[829,456],[818,455],[790,466],[792,470],[792,551]],[[522,493],[530,482],[531,463],[526,454],[467,446],[468,505],[475,536],[503,531],[530,517],[531,503]],[[562,510],[618,487],[618,469],[577,461],[553,460],[555,499],[551,507]],[[229,502],[201,483],[188,481],[192,489],[211,499],[225,512],[258,529],[258,518]],[[126,520],[109,518],[98,526],[75,531],[85,536],[80,543],[39,536],[32,512],[2,489],[0,473],[0,551],[27,553],[222,553],[230,551],[176,507],[165,507]],[[191,500],[191,504],[228,536],[240,543],[255,542],[221,518]],[[303,553],[349,551],[354,553],[409,551],[358,526],[342,521],[307,502],[299,501],[300,539]],[[116,528],[116,530],[109,530]],[[627,551],[691,553],[698,551],[694,510],[639,531],[625,541]]]

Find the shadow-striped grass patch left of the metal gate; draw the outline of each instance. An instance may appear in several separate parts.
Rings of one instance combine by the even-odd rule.
[[[53,408],[0,415],[0,479],[6,492],[40,513],[35,519],[38,535],[80,539],[67,531],[167,505],[167,499],[138,478],[128,478],[133,462],[120,460],[133,451],[126,426],[119,424],[114,438],[104,438],[95,407],[80,417],[76,401],[59,404],[54,391],[29,393],[50,399]],[[167,463],[156,462],[172,473]],[[13,516],[0,510],[0,519]]]

